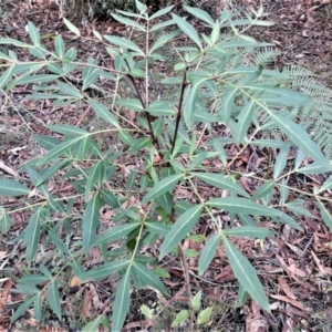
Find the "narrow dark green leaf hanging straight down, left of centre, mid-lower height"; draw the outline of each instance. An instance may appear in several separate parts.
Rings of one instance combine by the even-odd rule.
[[[82,242],[85,253],[89,253],[95,241],[96,229],[100,225],[100,198],[94,195],[87,203],[83,214],[83,235]]]

